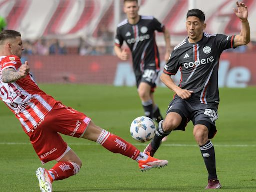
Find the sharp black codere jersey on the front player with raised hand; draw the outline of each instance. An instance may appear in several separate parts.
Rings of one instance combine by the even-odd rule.
[[[191,100],[203,104],[219,103],[219,58],[223,50],[234,48],[234,37],[203,33],[197,43],[189,43],[186,38],[173,49],[163,72],[175,75],[180,69],[179,87],[193,91]]]

